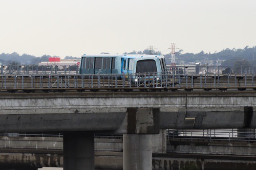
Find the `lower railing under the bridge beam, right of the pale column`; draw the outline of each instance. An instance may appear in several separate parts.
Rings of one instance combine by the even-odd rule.
[[[209,142],[256,142],[256,132],[254,129],[246,132],[241,132],[237,129],[167,130],[167,140],[172,139],[207,140]]]

